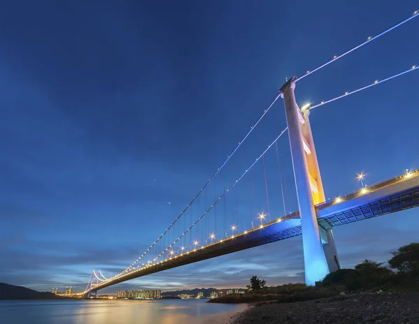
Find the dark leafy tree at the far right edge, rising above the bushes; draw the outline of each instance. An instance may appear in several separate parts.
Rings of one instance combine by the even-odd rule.
[[[399,247],[392,252],[392,258],[388,260],[390,267],[399,270],[402,274],[419,275],[419,243],[411,243]]]

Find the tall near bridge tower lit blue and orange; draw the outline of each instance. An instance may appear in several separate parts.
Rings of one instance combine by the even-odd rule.
[[[314,285],[329,272],[340,268],[332,230],[318,226],[315,205],[325,202],[320,168],[309,122],[309,109],[301,111],[295,102],[295,79],[279,90],[284,98],[288,136],[293,159],[295,187],[301,216],[305,281]]]

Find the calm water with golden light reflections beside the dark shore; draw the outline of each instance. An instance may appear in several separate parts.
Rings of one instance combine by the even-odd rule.
[[[62,300],[0,302],[1,323],[219,324],[245,306],[203,300]]]

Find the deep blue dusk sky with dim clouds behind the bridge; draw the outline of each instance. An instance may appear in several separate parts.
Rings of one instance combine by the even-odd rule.
[[[0,281],[84,288],[92,269],[109,276],[123,270],[198,193],[286,77],[419,9],[413,0],[283,2],[3,4]],[[298,103],[318,103],[419,64],[418,31],[419,20],[412,20],[298,82]],[[414,71],[311,112],[326,196],[358,189],[361,171],[372,184],[419,168],[418,84]],[[221,182],[232,182],[285,126],[278,101]],[[279,149],[286,209],[293,212],[287,141],[281,138]],[[274,163],[267,156],[272,172]],[[254,194],[255,211],[265,208],[263,190]],[[236,208],[249,212],[238,202]],[[342,265],[387,260],[417,240],[417,215],[411,209],[337,228]],[[244,286],[254,274],[279,284],[302,281],[302,272],[297,237],[108,291]]]

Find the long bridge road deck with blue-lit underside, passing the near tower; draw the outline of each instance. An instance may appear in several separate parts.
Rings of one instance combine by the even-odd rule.
[[[404,176],[381,182],[368,187],[368,191],[351,193],[340,202],[326,202],[316,206],[318,223],[325,230],[341,226],[346,223],[371,219],[383,214],[399,212],[404,209],[419,206],[419,172],[412,172],[409,178]],[[169,270],[174,267],[196,263],[201,260],[223,256],[228,253],[251,249],[255,246],[269,244],[290,237],[301,235],[300,214],[295,212],[281,221],[271,221],[261,228],[253,228],[235,237],[229,237],[222,242],[216,242],[196,249],[182,256],[176,256],[156,265],[150,265],[142,270],[136,270],[113,279],[112,281],[99,284],[95,290],[99,290],[115,283],[147,276],[156,272]]]

